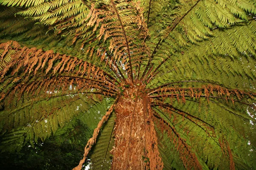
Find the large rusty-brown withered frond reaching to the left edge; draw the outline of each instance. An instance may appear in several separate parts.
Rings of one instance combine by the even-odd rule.
[[[56,90],[63,93],[71,89],[98,89],[107,95],[117,92],[114,77],[76,57],[36,48],[20,48],[17,42],[3,43],[1,48],[6,51],[1,63],[0,81],[4,85],[1,99],[12,90],[19,90],[19,95],[24,92],[38,95],[40,91],[53,93]]]

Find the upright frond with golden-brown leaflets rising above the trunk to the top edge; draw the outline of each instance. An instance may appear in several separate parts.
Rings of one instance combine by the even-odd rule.
[[[140,4],[130,1],[125,1],[125,3],[127,5],[124,5],[124,2],[111,1],[110,4],[101,9],[95,8],[95,4],[92,4],[87,18],[87,26],[93,27],[93,33],[99,31],[97,37],[93,39],[93,41],[99,42],[97,55],[102,59],[105,58],[107,63],[121,62],[121,65],[115,63],[113,69],[117,68],[123,79],[124,76],[122,74],[128,75],[129,79],[131,79],[131,82],[128,83],[134,84],[135,72],[133,67],[138,65],[141,58],[147,58],[146,55],[150,51],[145,42],[143,42],[148,35],[148,28],[143,22],[143,9]],[[85,33],[84,30],[79,28],[76,30],[76,34],[79,37]],[[134,39],[135,36],[137,36],[136,39]],[[141,42],[138,43],[138,40]],[[93,41],[90,40],[89,43]],[[102,42],[108,42],[108,50],[105,50],[106,47]],[[90,48],[88,48],[88,52],[91,50]],[[111,56],[112,59],[106,58],[106,51],[108,51],[108,58]],[[123,68],[124,71],[122,70]]]

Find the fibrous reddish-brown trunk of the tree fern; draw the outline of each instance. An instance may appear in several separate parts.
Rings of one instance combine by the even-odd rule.
[[[161,170],[149,99],[136,88],[124,91],[116,105],[112,170]]]

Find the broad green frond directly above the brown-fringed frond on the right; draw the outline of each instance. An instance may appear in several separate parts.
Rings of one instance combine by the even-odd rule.
[[[160,76],[163,84],[171,77],[174,82],[190,77],[189,79],[218,82],[226,87],[253,90],[256,73],[252,69],[256,62],[253,57],[256,48],[254,25],[255,22],[250,21],[248,24],[234,26],[233,29],[215,29],[215,36],[209,40],[190,45],[181,49],[180,53],[170,55],[155,77]],[[168,73],[170,70],[173,71]],[[162,78],[162,74],[166,75],[166,79]],[[244,79],[239,78],[241,75]],[[176,79],[177,77],[180,78]],[[156,85],[157,81],[151,83]]]

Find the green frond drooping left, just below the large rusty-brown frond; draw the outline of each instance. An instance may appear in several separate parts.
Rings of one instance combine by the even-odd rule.
[[[93,101],[82,94],[55,96],[34,102],[33,105],[23,99],[18,101],[15,109],[6,108],[0,112],[0,126],[3,126],[0,132],[3,136],[0,140],[3,145],[1,148],[19,150],[26,142],[33,145],[38,139],[44,141],[52,135],[58,136],[60,129],[69,128],[69,124],[76,119],[92,130],[110,102],[108,99]],[[90,131],[86,133],[88,137],[92,134]]]

